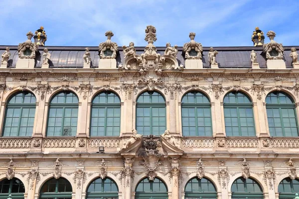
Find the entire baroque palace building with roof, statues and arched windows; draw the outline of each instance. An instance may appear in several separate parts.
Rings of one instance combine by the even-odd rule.
[[[294,199],[296,46],[0,46],[1,199]],[[32,42],[31,39],[34,39]]]

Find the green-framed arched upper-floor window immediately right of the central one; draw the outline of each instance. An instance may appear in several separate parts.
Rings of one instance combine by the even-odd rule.
[[[183,136],[212,136],[211,103],[200,92],[192,91],[182,98]]]

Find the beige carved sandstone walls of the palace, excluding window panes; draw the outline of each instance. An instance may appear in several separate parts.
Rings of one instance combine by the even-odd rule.
[[[94,179],[108,177],[117,184],[120,199],[134,199],[142,179],[159,178],[168,189],[169,199],[184,199],[186,183],[196,177],[209,179],[216,187],[218,199],[231,199],[232,184],[242,177],[258,182],[264,199],[279,199],[280,182],[297,178],[299,136],[270,135],[265,99],[274,91],[285,92],[294,100],[298,113],[299,71],[220,66],[185,69],[175,57],[177,52],[174,56],[156,52],[153,26],[147,27],[146,40],[149,44],[143,48],[143,54],[127,56],[124,62],[117,62],[118,66],[126,63],[125,66],[117,68],[83,68],[83,64],[81,68],[51,67],[50,58],[48,68],[1,67],[0,129],[4,126],[7,101],[15,93],[32,93],[36,97],[36,111],[32,136],[0,137],[0,179],[18,178],[24,184],[25,199],[38,199],[47,180],[65,178],[72,185],[72,198],[85,199],[87,187]],[[10,52],[16,49],[9,48]],[[55,49],[47,48],[54,57]],[[262,49],[247,48],[249,60],[251,50]],[[0,49],[4,52],[5,46]],[[89,47],[91,53],[95,49]],[[164,51],[165,47],[161,49]],[[178,49],[182,54],[182,49]],[[285,47],[282,53],[290,49]],[[84,50],[79,49],[78,59],[82,61]],[[101,55],[107,56],[102,51]],[[207,54],[209,47],[203,51]],[[116,50],[113,53],[109,59],[117,60],[120,54]],[[196,53],[202,56],[202,51]],[[219,54],[217,62],[221,63],[218,57]],[[202,65],[202,59],[190,61],[200,61]],[[77,134],[49,137],[46,129],[50,100],[61,91],[71,91],[79,98]],[[103,91],[114,92],[121,99],[119,136],[90,136],[92,100]],[[159,132],[161,136],[135,139],[132,129],[136,128],[137,98],[145,91],[159,92],[165,98],[168,131]],[[210,137],[183,136],[181,99],[190,91],[200,91],[210,100]],[[231,91],[242,92],[252,101],[256,136],[226,136],[223,99]],[[129,139],[132,140],[128,142]],[[149,142],[155,143],[154,149],[147,146]],[[100,146],[104,147],[104,153],[97,153]]]

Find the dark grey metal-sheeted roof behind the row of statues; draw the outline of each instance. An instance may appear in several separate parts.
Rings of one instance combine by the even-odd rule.
[[[18,59],[17,55],[17,46],[0,46],[0,54],[5,51],[5,47],[10,49],[10,58],[8,60],[9,67],[14,68],[16,61]],[[82,68],[83,67],[83,54],[85,47],[75,47],[75,46],[45,46],[48,48],[49,53],[51,54],[50,67],[53,68]],[[39,47],[39,54],[36,56],[36,67],[41,67],[42,61],[41,54],[45,47]],[[287,68],[292,68],[292,58],[290,57],[291,48],[295,47],[299,49],[299,46],[284,46],[284,61],[286,62]],[[89,47],[90,56],[92,61],[92,67],[97,68],[99,64],[99,52],[98,47]],[[144,53],[145,47],[136,47],[137,54],[141,55]],[[165,47],[156,47],[157,53],[161,55],[164,54]],[[185,64],[185,60],[182,56],[182,47],[178,47],[178,63]],[[261,55],[263,48],[262,47],[214,47],[214,50],[218,51],[217,62],[219,68],[251,68],[250,53],[251,50],[257,52],[257,61],[260,64],[260,68],[266,67],[266,59]],[[209,47],[203,47],[203,67],[210,68],[208,61],[208,52]],[[2,58],[0,57],[0,60]],[[123,48],[119,48],[119,53],[117,55],[117,62],[124,62]]]

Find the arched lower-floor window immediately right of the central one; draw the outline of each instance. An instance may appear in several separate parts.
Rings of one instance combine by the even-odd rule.
[[[217,199],[217,191],[210,180],[195,177],[186,184],[185,199]]]

